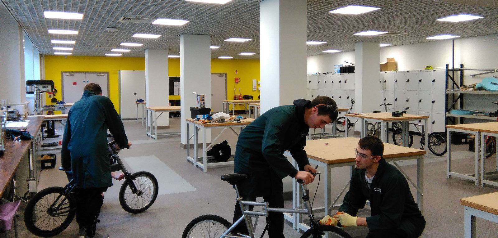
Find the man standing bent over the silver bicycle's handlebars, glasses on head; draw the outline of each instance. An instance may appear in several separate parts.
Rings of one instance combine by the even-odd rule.
[[[302,179],[304,184],[313,182],[310,173],[316,170],[309,164],[304,146],[310,128],[323,128],[337,119],[337,104],[326,96],[313,101],[298,99],[294,105],[272,108],[246,126],[237,141],[235,151],[236,173],[249,174],[249,178],[237,184],[244,200],[255,201],[263,197],[270,207],[283,208],[282,178],[290,176]],[[299,165],[299,171],[283,155],[289,151]],[[252,208],[251,208],[252,209]],[[239,204],[235,204],[234,223],[242,216]],[[270,213],[268,236],[283,238],[283,214]],[[248,234],[245,224],[239,225],[233,234]]]

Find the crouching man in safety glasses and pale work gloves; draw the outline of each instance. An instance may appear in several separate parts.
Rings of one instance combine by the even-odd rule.
[[[367,238],[417,238],[425,228],[424,216],[413,200],[403,174],[382,158],[384,144],[374,136],[360,139],[356,168],[340,212],[334,216],[342,226],[368,227]],[[370,201],[372,216],[357,217]]]

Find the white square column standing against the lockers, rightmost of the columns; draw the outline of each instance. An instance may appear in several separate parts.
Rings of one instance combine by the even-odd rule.
[[[355,111],[357,112],[373,112],[379,108],[376,100],[378,96],[372,98],[382,85],[379,83],[379,59],[378,42],[355,43]],[[358,126],[358,131],[359,128]]]

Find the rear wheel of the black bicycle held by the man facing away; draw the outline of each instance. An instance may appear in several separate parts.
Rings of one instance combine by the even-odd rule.
[[[64,194],[64,188],[48,187],[36,193],[26,205],[24,224],[35,236],[51,237],[64,231],[75,213],[76,201]]]

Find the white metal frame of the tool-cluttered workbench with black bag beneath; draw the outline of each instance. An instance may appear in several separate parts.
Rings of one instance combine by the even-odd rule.
[[[227,128],[230,128],[230,130],[232,130],[237,136],[239,136],[239,133],[237,133],[233,128],[234,127],[240,127],[240,131],[242,131],[242,129],[244,129],[244,127],[246,127],[248,124],[242,124],[241,123],[232,123],[232,125],[220,125],[220,126],[204,126],[204,124],[202,125],[199,125],[199,124],[196,124],[192,121],[188,121],[186,120],[186,123],[187,123],[187,137],[186,137],[186,140],[187,140],[187,161],[191,161],[193,164],[194,164],[194,167],[195,166],[198,166],[200,168],[203,169],[203,172],[207,172],[208,171],[208,167],[215,167],[215,166],[223,166],[223,165],[227,165],[227,164],[234,164],[234,161],[225,161],[225,162],[210,162],[208,163],[207,162],[207,151],[209,151],[209,149],[211,149],[212,146],[215,145],[215,141],[218,139],[218,137],[221,136],[221,134],[223,134],[223,132],[227,129]],[[193,125],[194,126],[194,157],[191,157],[190,156],[190,127],[189,125]],[[211,144],[209,146],[206,146],[206,141],[207,141],[207,137],[206,137],[206,130],[207,129],[212,129],[212,128],[223,128],[223,130],[220,132],[220,134],[218,134],[218,136],[216,136],[216,138],[211,141]],[[202,138],[202,162],[200,162],[200,159],[199,158],[199,130],[202,129],[203,130],[203,138]]]

